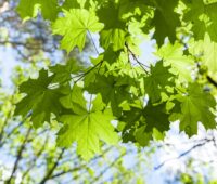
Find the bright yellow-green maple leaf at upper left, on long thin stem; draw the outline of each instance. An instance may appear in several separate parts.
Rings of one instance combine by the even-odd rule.
[[[85,9],[64,11],[64,17],[59,17],[52,26],[53,34],[62,35],[61,48],[67,52],[76,45],[82,51],[88,31],[98,32],[103,24],[98,17]]]

